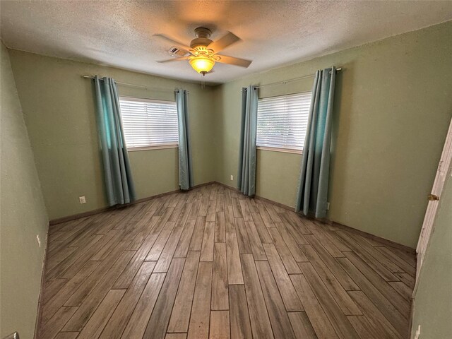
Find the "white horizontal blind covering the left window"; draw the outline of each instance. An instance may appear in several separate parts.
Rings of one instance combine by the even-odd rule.
[[[179,143],[176,102],[119,97],[127,148]]]

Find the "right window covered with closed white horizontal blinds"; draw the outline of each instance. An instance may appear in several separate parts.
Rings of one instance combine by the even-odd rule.
[[[257,145],[295,153],[303,149],[311,92],[259,99]]]

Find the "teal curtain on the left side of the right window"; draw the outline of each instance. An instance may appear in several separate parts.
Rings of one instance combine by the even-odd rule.
[[[256,194],[257,91],[255,86],[242,89],[242,130],[237,188],[245,196]]]

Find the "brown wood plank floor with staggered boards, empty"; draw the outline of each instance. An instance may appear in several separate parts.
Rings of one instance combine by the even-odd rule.
[[[212,184],[50,227],[40,338],[408,338],[415,257]]]

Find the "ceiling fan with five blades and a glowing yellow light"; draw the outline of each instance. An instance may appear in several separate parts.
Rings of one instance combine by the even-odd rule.
[[[239,37],[232,34],[232,32],[227,32],[226,35],[220,37],[220,39],[218,39],[217,41],[212,41],[209,39],[210,35],[212,35],[212,32],[208,28],[196,28],[195,35],[196,38],[194,40],[191,40],[190,47],[184,46],[184,44],[180,44],[175,40],[165,37],[165,35],[157,35],[158,37],[163,37],[165,40],[169,40],[173,44],[182,47],[172,47],[172,49],[169,50],[170,53],[182,57],[157,62],[188,60],[191,67],[198,73],[202,74],[202,76],[205,76],[213,69],[215,62],[221,62],[223,64],[230,64],[245,68],[251,64],[251,61],[249,60],[218,54],[226,47],[229,47],[231,44],[234,44],[235,42],[241,40]]]

